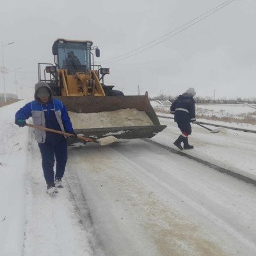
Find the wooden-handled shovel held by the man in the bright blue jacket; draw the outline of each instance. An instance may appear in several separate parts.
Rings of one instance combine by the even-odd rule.
[[[55,133],[62,134],[62,135],[67,136],[67,137],[74,136],[74,134],[71,134],[71,133],[68,133],[68,132],[61,132],[61,131],[57,131],[57,130],[54,130],[54,129],[42,127],[42,126],[39,126],[39,125],[26,124],[26,126],[33,127],[35,129],[40,129],[42,131],[55,132]],[[118,141],[118,139],[115,138],[114,136],[108,136],[108,137],[100,138],[100,139],[90,139],[90,138],[86,138],[84,136],[77,136],[77,139],[84,140],[86,142],[100,143],[100,145],[102,145],[102,146],[109,145],[109,144],[112,144],[112,143]]]

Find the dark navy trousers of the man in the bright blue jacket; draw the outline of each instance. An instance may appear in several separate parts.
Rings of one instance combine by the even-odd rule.
[[[67,140],[63,139],[57,144],[51,142],[38,143],[42,156],[42,168],[47,185],[54,184],[54,157],[56,159],[55,178],[61,179],[67,163]]]

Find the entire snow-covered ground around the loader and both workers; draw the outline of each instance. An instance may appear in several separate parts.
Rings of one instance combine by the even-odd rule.
[[[65,188],[45,193],[38,146],[0,108],[0,255],[255,255],[255,186],[145,140],[69,148]],[[173,120],[152,140],[174,148]],[[255,134],[193,125],[187,151],[256,179]],[[11,188],[11,189],[10,189]]]

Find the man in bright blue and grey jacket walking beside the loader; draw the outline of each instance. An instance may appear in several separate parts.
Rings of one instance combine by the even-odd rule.
[[[15,115],[15,124],[26,125],[26,119],[32,117],[33,124],[50,129],[76,134],[70,122],[67,108],[60,100],[52,99],[52,91],[47,83],[35,84],[35,100],[20,108]],[[63,188],[62,177],[67,163],[67,138],[62,134],[34,129],[35,139],[42,156],[42,168],[47,183],[47,193],[58,193]],[[56,173],[54,178],[54,156]]]

